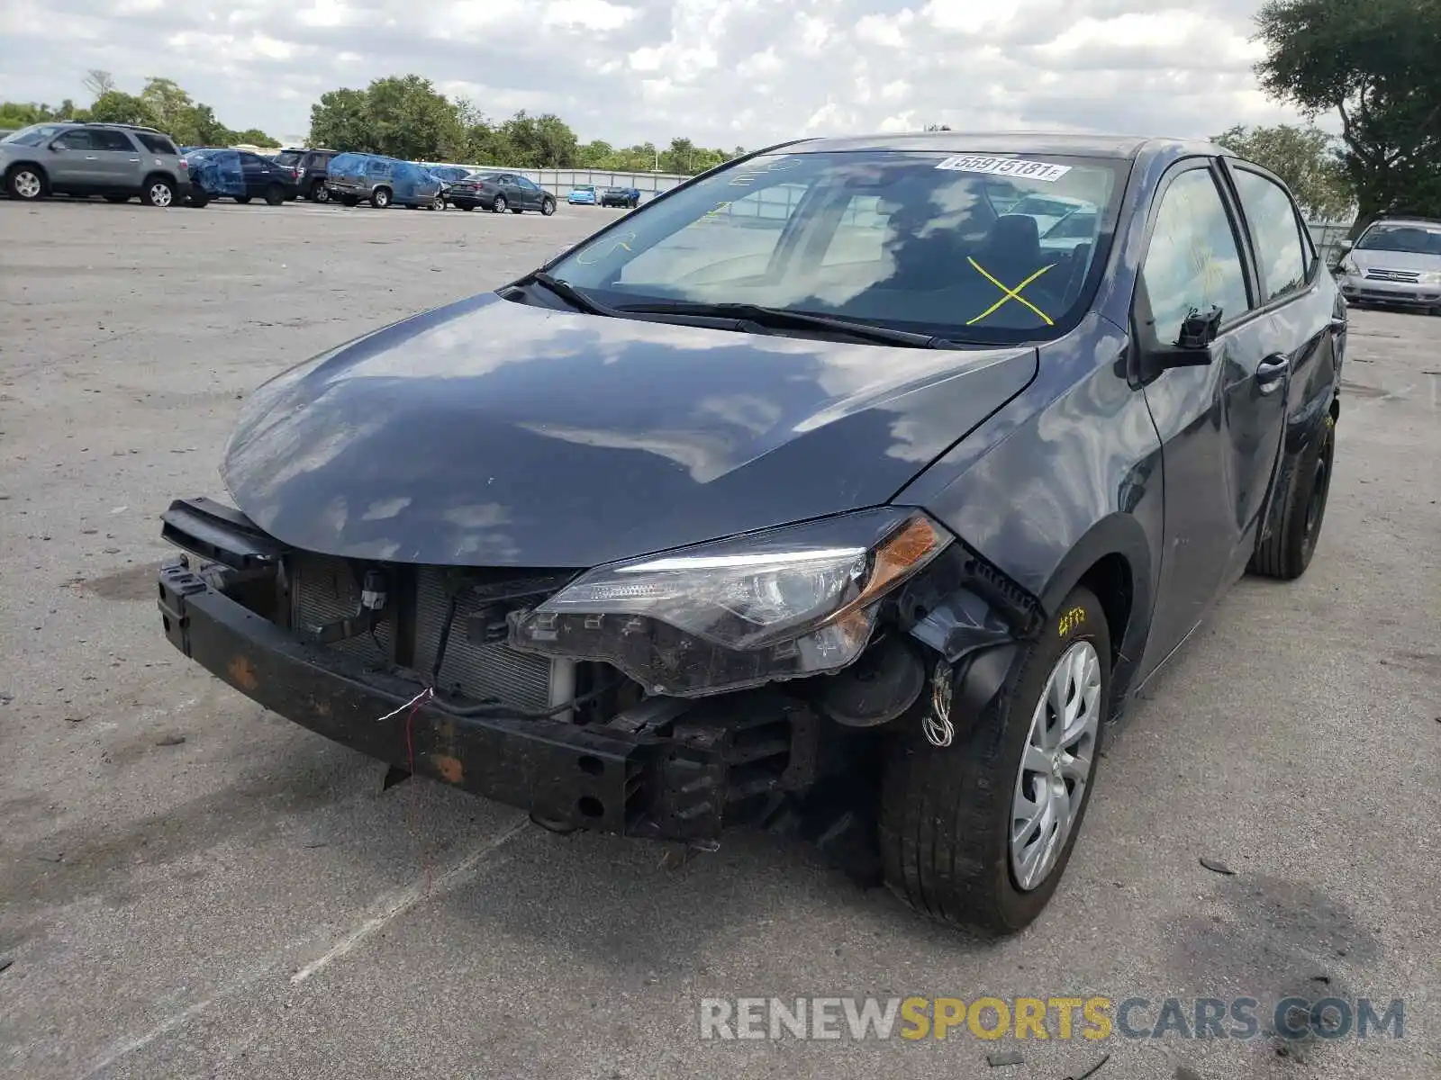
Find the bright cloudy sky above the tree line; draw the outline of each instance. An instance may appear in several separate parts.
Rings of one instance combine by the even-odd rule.
[[[416,72],[582,140],[1294,120],[1255,88],[1259,0],[7,0],[0,98],[85,104],[88,68],[180,82],[232,128],[303,137],[336,86]]]

